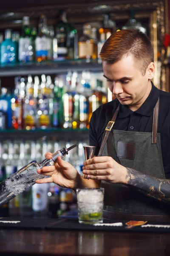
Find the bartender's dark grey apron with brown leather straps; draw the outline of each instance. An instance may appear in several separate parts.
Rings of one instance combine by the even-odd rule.
[[[159,99],[153,113],[152,133],[112,130],[119,107],[102,139],[98,156],[110,156],[122,166],[165,179],[160,133],[157,133]],[[108,138],[109,137],[109,138]],[[170,205],[149,198],[129,186],[102,181],[105,188],[103,218],[170,221]]]

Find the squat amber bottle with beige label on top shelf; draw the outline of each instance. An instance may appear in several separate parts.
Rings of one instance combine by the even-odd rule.
[[[97,58],[97,42],[91,37],[91,25],[83,26],[83,35],[79,38],[79,58],[96,59]]]

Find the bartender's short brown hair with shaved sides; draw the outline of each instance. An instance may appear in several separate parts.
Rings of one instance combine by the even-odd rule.
[[[133,55],[139,61],[144,76],[153,61],[153,46],[147,35],[137,29],[120,30],[105,41],[100,52],[100,58],[107,64],[113,64],[125,55]]]

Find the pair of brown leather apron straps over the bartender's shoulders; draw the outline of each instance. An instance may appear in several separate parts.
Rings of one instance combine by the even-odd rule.
[[[99,153],[97,155],[98,157],[100,157],[102,155],[103,149],[105,148],[105,144],[106,144],[109,134],[113,128],[113,125],[115,123],[118,112],[119,112],[119,106],[116,108],[116,111],[115,111],[111,121],[109,121],[108,124],[106,125],[105,131],[103,134],[103,138],[102,138],[102,144],[101,144]],[[153,110],[152,144],[157,143],[158,118],[159,118],[159,98],[158,98],[156,106]]]

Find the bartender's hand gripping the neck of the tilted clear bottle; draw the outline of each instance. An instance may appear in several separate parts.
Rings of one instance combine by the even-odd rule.
[[[50,159],[51,153],[46,153],[45,157]],[[81,179],[77,170],[70,163],[63,161],[61,157],[57,157],[57,162],[54,166],[45,166],[42,169],[37,169],[37,173],[51,177],[36,180],[36,183],[54,182],[69,189],[75,189],[79,186]]]

